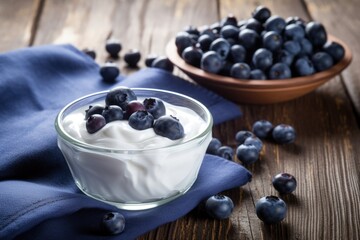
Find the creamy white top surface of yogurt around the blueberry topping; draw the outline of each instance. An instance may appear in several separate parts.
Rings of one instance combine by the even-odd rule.
[[[141,99],[140,99],[141,101]],[[95,103],[103,104],[102,102]],[[170,140],[159,136],[153,128],[145,130],[133,129],[127,120],[117,120],[107,123],[96,133],[88,133],[85,125],[85,110],[79,108],[66,116],[63,122],[64,129],[75,139],[99,147],[114,149],[152,149],[166,147],[180,142],[187,141],[203,132],[206,128],[205,121],[193,110],[175,106],[164,102],[166,115],[171,115],[179,119],[184,127],[185,136],[178,140]]]

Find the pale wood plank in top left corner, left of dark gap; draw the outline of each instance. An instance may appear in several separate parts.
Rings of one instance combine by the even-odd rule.
[[[31,44],[41,0],[0,1],[0,52]]]

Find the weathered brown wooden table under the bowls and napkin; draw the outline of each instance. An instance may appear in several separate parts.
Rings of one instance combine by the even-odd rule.
[[[235,209],[227,220],[192,211],[139,239],[360,239],[360,3],[357,0],[13,0],[0,1],[0,51],[50,43],[93,48],[97,61],[107,54],[104,43],[115,37],[123,52],[165,54],[165,45],[186,25],[213,23],[228,13],[248,18],[257,4],[274,14],[322,22],[329,33],[353,51],[349,68],[316,91],[274,105],[241,105],[244,116],[214,127],[214,136],[235,147],[234,134],[259,119],[293,125],[295,144],[265,142],[264,154],[249,170],[253,181],[227,191]],[[124,68],[123,74],[131,70]],[[144,67],[143,61],[141,67]],[[175,71],[184,77],[180,71]],[[298,188],[284,197],[288,214],[281,223],[263,224],[254,204],[277,195],[271,177],[296,176]]]

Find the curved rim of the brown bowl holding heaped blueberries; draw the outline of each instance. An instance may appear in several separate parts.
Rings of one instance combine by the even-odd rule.
[[[204,70],[187,64],[177,52],[175,45],[175,38],[172,38],[166,45],[166,54],[169,60],[180,68],[185,73],[194,77],[193,80],[199,81],[196,78],[202,78],[203,81],[209,81],[209,84],[222,84],[226,86],[233,86],[238,88],[251,88],[251,89],[272,89],[272,88],[288,88],[294,86],[301,86],[306,84],[314,84],[315,82],[321,82],[325,79],[330,79],[338,75],[343,69],[345,69],[352,61],[352,53],[350,48],[339,38],[336,38],[328,34],[328,41],[334,41],[341,44],[344,47],[345,54],[337,64],[330,69],[318,72],[305,77],[294,77],[287,79],[274,79],[274,80],[255,80],[255,79],[235,79],[228,76],[213,74],[205,72]],[[221,80],[221,81],[220,81]]]

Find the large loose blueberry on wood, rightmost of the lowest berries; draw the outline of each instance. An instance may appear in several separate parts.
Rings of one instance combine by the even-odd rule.
[[[256,215],[266,224],[281,222],[286,217],[286,203],[276,196],[266,196],[260,198],[256,204]]]

